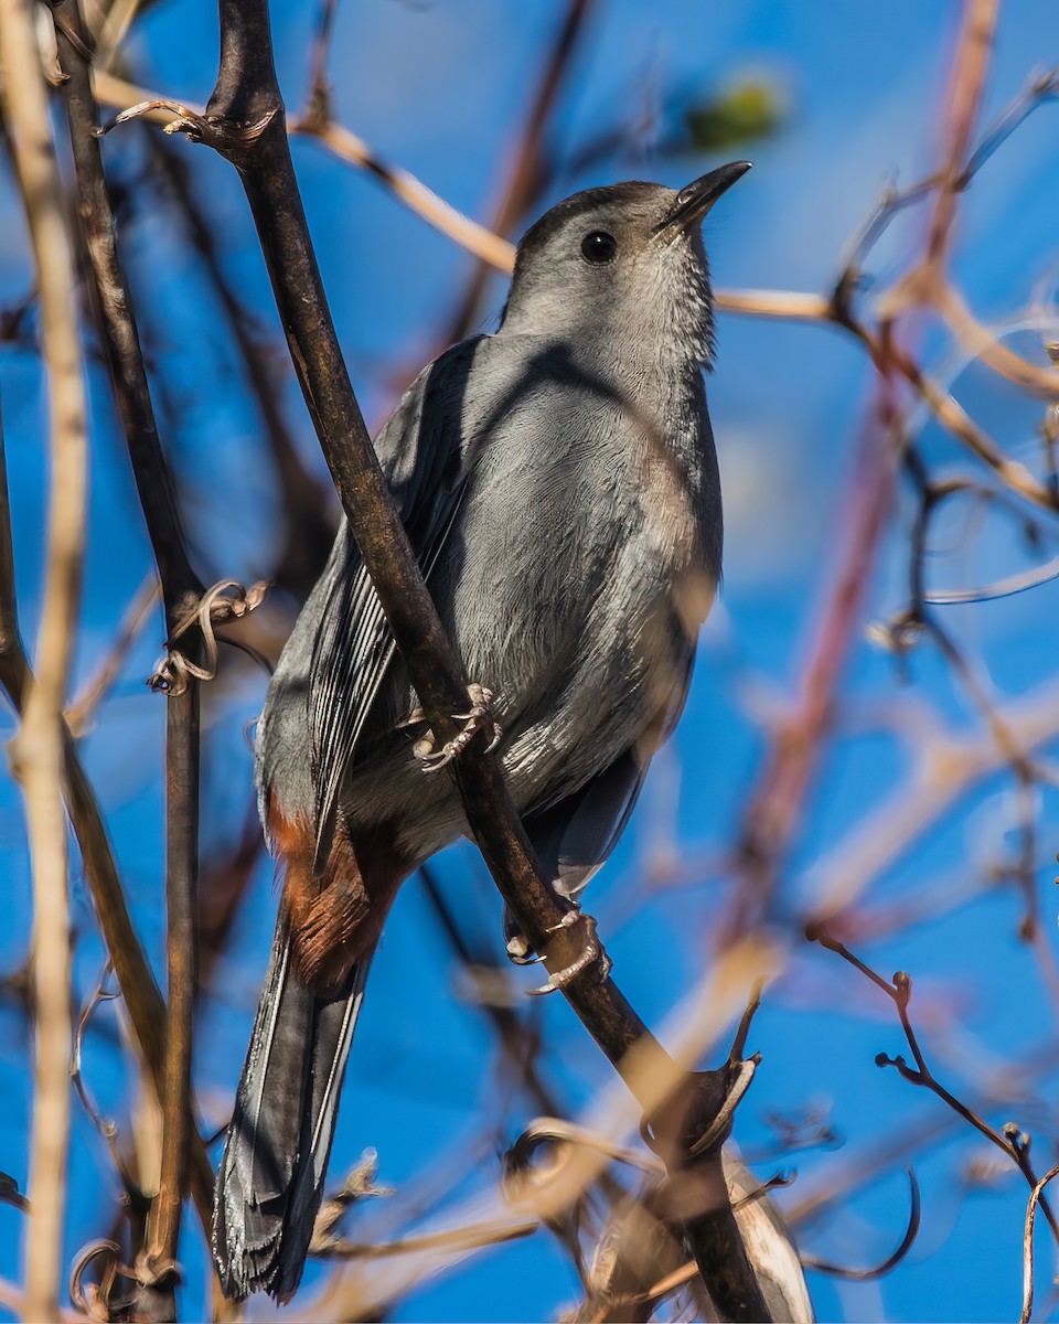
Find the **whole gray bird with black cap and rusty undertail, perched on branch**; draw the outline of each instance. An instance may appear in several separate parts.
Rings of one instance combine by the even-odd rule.
[[[496,334],[425,368],[376,442],[466,674],[495,692],[482,718],[475,690],[475,715],[495,719],[515,804],[569,898],[679,716],[720,576],[699,221],[748,168],[552,208],[519,245]],[[416,704],[343,524],[258,728],[283,891],[217,1181],[229,1296],[297,1288],[383,923],[400,883],[466,831],[453,780],[424,776],[453,751],[424,764]]]

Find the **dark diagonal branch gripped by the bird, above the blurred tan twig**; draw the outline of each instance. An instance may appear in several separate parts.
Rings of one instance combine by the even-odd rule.
[[[392,506],[339,351],[287,150],[263,7],[224,0],[221,30],[221,73],[208,107],[207,135],[212,128],[214,146],[240,168],[298,379],[335,486],[417,694],[439,737],[449,739],[455,735],[450,714],[466,703],[466,678]],[[559,941],[551,941],[549,929],[560,923],[565,907],[537,873],[496,761],[469,748],[458,767],[467,817],[494,876],[500,874],[498,883],[526,923],[530,941],[549,948],[552,964],[560,968],[577,936],[571,935],[565,953]],[[597,990],[590,980],[577,981],[571,1000],[593,1023],[616,1063],[631,1043],[643,1042],[668,1064],[609,982]]]

